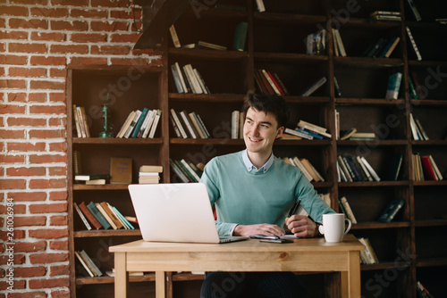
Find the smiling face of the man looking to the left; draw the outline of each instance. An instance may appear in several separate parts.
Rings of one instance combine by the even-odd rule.
[[[281,136],[283,127],[277,128],[278,122],[272,113],[259,112],[249,108],[244,122],[244,141],[250,153],[270,154],[274,139]]]

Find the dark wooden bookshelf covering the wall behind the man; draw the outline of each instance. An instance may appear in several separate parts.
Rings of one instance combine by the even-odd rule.
[[[441,1],[414,0],[421,14],[433,15],[429,7],[439,11]],[[223,1],[224,4],[244,6],[244,11],[210,7],[200,12],[200,18],[189,8],[174,23],[181,45],[203,40],[227,46],[227,51],[175,48],[166,34],[162,46],[162,67],[143,67],[141,79],[131,81],[125,96],[118,98],[112,108],[115,129],[133,109],[162,109],[162,119],[153,139],[101,139],[97,133],[102,120],[92,120],[92,137],[79,138],[72,135],[72,104],[91,108],[100,100],[97,94],[109,83],[117,84],[125,78],[129,67],[71,67],[68,70],[68,156],[69,156],[69,214],[70,214],[70,261],[73,296],[93,297],[98,293],[113,294],[111,277],[85,277],[75,261],[74,250],[89,249],[98,255],[97,244],[120,244],[139,237],[138,230],[87,231],[82,227],[72,203],[82,201],[116,203],[117,208],[134,215],[127,186],[82,186],[73,184],[72,151],[81,151],[86,170],[107,171],[112,156],[129,156],[134,170],[141,164],[164,166],[163,182],[175,182],[169,159],[189,159],[206,163],[216,155],[232,153],[244,148],[241,139],[231,139],[229,123],[231,112],[239,110],[244,96],[258,92],[255,71],[265,68],[276,72],[288,87],[290,95],[284,96],[291,106],[289,128],[299,120],[307,120],[328,128],[334,136],[334,112],[340,112],[342,129],[358,128],[358,131],[374,130],[379,139],[374,141],[336,140],[282,140],[274,145],[278,157],[299,156],[307,158],[324,174],[325,182],[313,183],[319,193],[330,193],[332,207],[338,211],[339,197],[346,196],[358,219],[351,232],[358,237],[370,239],[379,263],[362,265],[362,295],[376,297],[371,290],[371,280],[376,275],[396,269],[388,286],[381,287],[378,297],[416,298],[416,282],[420,280],[431,294],[442,295],[443,280],[447,277],[447,247],[443,238],[447,232],[445,192],[447,181],[415,181],[411,154],[433,154],[441,172],[447,170],[447,80],[434,78],[436,71],[447,73],[447,43],[439,42],[439,33],[445,35],[445,25],[435,23],[434,18],[414,21],[406,0],[378,0],[358,3],[358,11],[339,20],[334,12],[347,9],[341,0],[293,1],[281,4],[265,0],[266,12],[257,12],[254,1]],[[445,7],[444,7],[445,8]],[[370,21],[369,14],[375,11],[401,12],[401,21]],[[444,10],[445,11],[445,10]],[[234,28],[240,21],[249,22],[245,50],[232,51]],[[325,54],[308,55],[303,39],[319,28],[331,29],[338,24],[347,56],[335,56],[332,31],[328,30]],[[417,61],[405,31],[409,26],[420,45],[423,60]],[[167,33],[167,32],[166,32]],[[401,37],[390,58],[361,57],[361,53],[377,37]],[[431,47],[436,49],[431,49]],[[211,90],[210,95],[179,94],[175,89],[171,64],[191,63],[196,67]],[[387,79],[395,71],[403,74],[397,100],[385,99]],[[420,80],[427,80],[426,99],[413,99],[409,90],[409,72],[416,71]],[[305,97],[302,92],[316,79],[325,76],[327,82],[315,94]],[[341,88],[342,97],[335,97],[333,77]],[[432,77],[430,77],[432,76]],[[431,78],[431,79],[430,79]],[[441,79],[440,79],[441,78]],[[123,92],[124,93],[124,92]],[[191,139],[176,137],[169,120],[169,110],[198,112],[206,124],[211,138]],[[430,140],[415,141],[409,127],[409,113],[417,115]],[[387,117],[393,116],[392,125]],[[387,122],[388,121],[388,122]],[[396,124],[397,123],[397,124]],[[396,124],[396,125],[394,125]],[[116,131],[116,130],[115,130]],[[367,157],[381,181],[337,182],[336,160],[340,154]],[[401,153],[403,161],[397,181],[387,180],[388,164],[393,153]],[[134,171],[133,182],[136,183]],[[377,221],[378,216],[392,199],[403,199],[405,205],[391,223]],[[433,249],[433,247],[436,247]],[[99,249],[103,249],[99,246]],[[103,251],[101,251],[103,252]],[[105,253],[105,252],[104,252]],[[113,268],[110,254],[97,257],[103,271]],[[337,297],[341,289],[339,277],[331,273],[300,275],[312,297]],[[187,272],[173,274],[168,278],[170,297],[197,297],[202,275]],[[181,282],[182,281],[182,282]],[[369,281],[369,284],[368,284]],[[133,277],[131,283],[137,297],[153,294],[153,276]],[[325,288],[322,288],[325,283]],[[369,286],[367,286],[367,284]],[[78,285],[78,288],[77,286]],[[135,286],[134,286],[135,285]],[[376,285],[376,284],[374,284]],[[79,287],[81,286],[81,287]],[[144,288],[144,290],[142,290]],[[139,293],[139,291],[141,293]]]

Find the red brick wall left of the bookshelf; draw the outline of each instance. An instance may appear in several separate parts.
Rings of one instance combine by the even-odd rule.
[[[160,63],[132,21],[127,0],[0,0],[0,298],[70,296],[66,68]]]

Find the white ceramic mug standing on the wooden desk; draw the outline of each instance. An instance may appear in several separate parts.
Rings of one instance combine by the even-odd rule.
[[[348,221],[346,229],[345,221]],[[319,230],[325,236],[326,242],[342,242],[351,225],[350,219],[345,219],[343,213],[323,214],[323,226],[320,226]]]

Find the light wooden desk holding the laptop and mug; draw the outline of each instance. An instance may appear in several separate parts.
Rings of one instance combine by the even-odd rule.
[[[166,271],[341,271],[342,297],[360,297],[360,254],[355,236],[329,244],[324,238],[293,244],[256,239],[228,244],[156,243],[143,240],[111,246],[115,297],[127,297],[129,271],[156,271],[156,297],[165,297]]]

